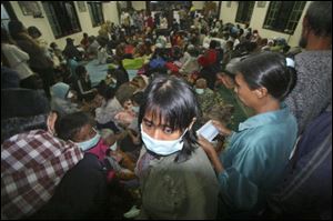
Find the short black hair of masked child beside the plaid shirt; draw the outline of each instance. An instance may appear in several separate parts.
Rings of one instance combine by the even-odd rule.
[[[94,124],[93,120],[83,111],[70,113],[57,120],[54,129],[62,140],[73,140],[82,127]]]

